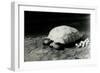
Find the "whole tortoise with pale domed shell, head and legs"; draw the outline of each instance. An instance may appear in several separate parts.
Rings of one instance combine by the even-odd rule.
[[[83,41],[86,38],[87,36],[79,32],[79,30],[76,28],[67,25],[61,25],[51,29],[48,36],[45,37],[43,45],[48,45],[55,49],[62,49],[65,47],[71,48],[76,46],[80,47],[82,44],[84,45]]]

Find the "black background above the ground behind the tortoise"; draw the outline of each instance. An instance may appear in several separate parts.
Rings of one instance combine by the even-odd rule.
[[[44,35],[56,26],[68,25],[80,31],[90,31],[90,14],[24,11],[24,33]]]

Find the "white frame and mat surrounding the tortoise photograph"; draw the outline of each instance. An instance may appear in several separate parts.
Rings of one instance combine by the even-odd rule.
[[[75,67],[95,65],[96,63],[96,47],[95,46],[95,32],[96,32],[96,8],[84,6],[42,6],[33,5],[32,3],[18,3],[11,4],[11,69],[19,70],[34,70],[46,68],[60,68],[60,67]],[[81,60],[58,60],[58,61],[35,61],[24,62],[24,10],[28,11],[46,11],[46,12],[70,12],[70,13],[89,13],[91,14],[91,58]]]

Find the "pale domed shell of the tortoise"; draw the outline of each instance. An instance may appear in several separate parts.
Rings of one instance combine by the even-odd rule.
[[[80,37],[81,34],[77,29],[66,25],[53,28],[48,35],[48,38],[50,38],[54,42],[59,42],[63,44],[74,42]]]

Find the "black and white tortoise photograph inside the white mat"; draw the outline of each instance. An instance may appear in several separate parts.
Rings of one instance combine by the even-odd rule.
[[[24,62],[89,59],[90,16],[24,11]]]

